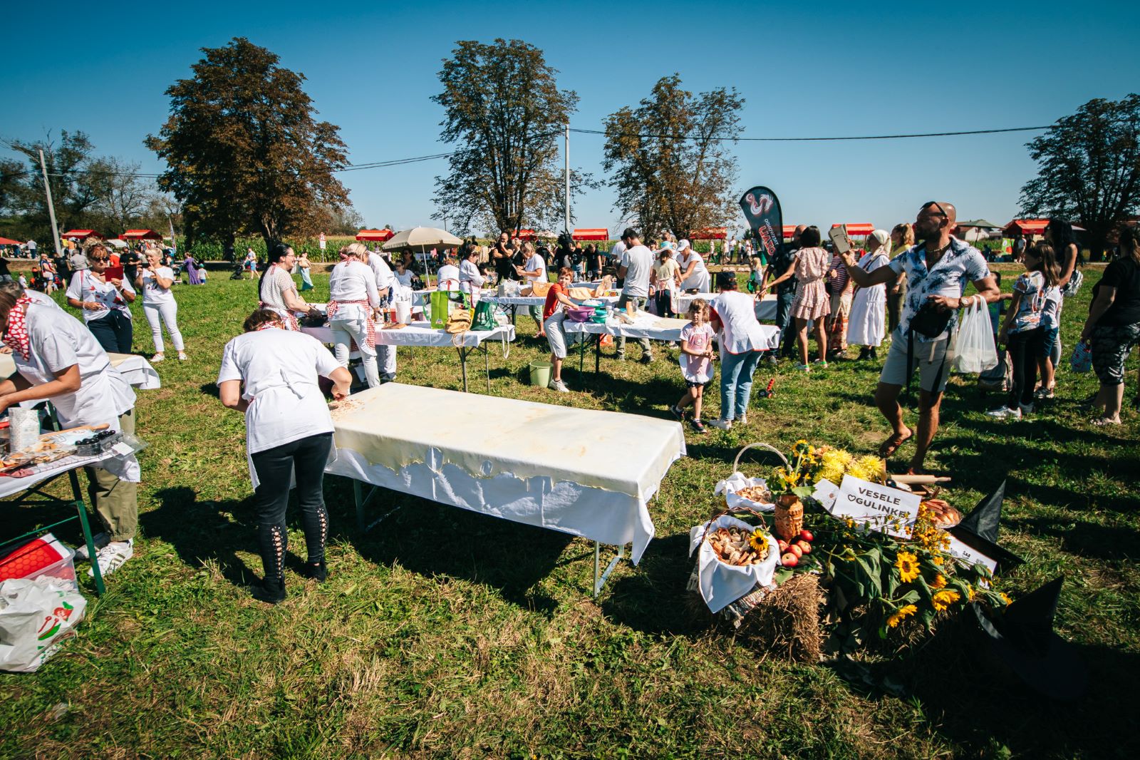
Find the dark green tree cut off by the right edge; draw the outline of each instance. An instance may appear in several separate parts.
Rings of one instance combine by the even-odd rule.
[[[1140,209],[1140,95],[1089,100],[1026,147],[1037,176],[1021,187],[1023,213],[1080,223],[1098,260],[1113,228]]]

